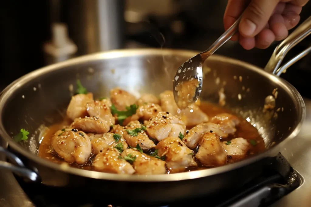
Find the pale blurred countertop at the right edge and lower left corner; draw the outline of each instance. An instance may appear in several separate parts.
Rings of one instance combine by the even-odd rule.
[[[311,203],[311,99],[304,98],[304,101],[307,115],[301,131],[297,137],[288,141],[281,150],[281,153],[291,166],[303,176],[304,183],[299,188],[276,201],[271,207],[309,206]],[[0,170],[0,183],[0,206],[34,206],[12,173]]]

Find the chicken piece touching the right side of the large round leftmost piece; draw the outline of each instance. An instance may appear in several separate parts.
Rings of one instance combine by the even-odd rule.
[[[87,134],[91,139],[91,144],[95,155],[109,148],[109,146],[117,146],[119,151],[128,148],[128,144],[123,139],[122,135],[115,135],[114,133],[101,133],[101,134]]]

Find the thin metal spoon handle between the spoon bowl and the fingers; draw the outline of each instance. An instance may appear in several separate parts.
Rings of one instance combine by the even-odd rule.
[[[219,47],[221,47],[225,42],[227,42],[235,33],[238,32],[239,23],[242,15],[237,19],[233,25],[224,34],[222,34],[206,51],[201,53],[203,60],[211,56]]]

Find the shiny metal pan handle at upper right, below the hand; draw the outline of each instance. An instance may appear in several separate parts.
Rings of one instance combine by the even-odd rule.
[[[295,62],[300,60],[302,57],[306,56],[310,51],[311,47],[299,53],[299,55],[292,58],[289,62],[287,62],[284,66],[281,66],[281,63],[291,48],[301,42],[304,38],[306,38],[309,34],[311,34],[311,16],[304,20],[287,38],[285,38],[274,50],[270,60],[268,61],[265,70],[269,73],[276,74],[280,76],[283,71],[293,65]]]

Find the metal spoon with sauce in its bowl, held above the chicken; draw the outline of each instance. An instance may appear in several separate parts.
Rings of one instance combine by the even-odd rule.
[[[202,66],[204,61],[237,33],[241,17],[242,15],[211,45],[211,47],[193,56],[178,68],[174,78],[173,92],[175,102],[180,109],[190,106],[199,98],[202,91]]]

